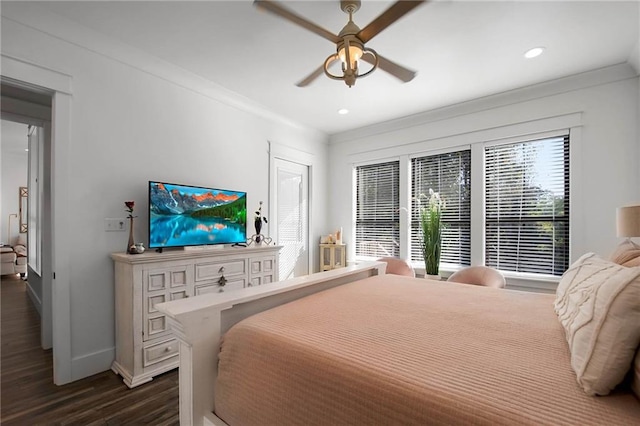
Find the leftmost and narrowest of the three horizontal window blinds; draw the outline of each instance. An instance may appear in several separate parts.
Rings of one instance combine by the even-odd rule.
[[[356,256],[400,255],[400,162],[356,167]]]

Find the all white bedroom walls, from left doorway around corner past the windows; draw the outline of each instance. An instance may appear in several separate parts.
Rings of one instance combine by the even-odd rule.
[[[3,55],[72,79],[66,173],[74,379],[108,369],[113,359],[109,253],[124,249],[127,233],[105,232],[104,218],[124,217],[123,202],[135,200],[136,240],[146,241],[150,179],[245,190],[251,209],[268,199],[267,141],[313,157],[311,241],[342,226],[350,251],[351,192],[344,183],[351,181],[354,157],[457,144],[496,126],[562,114],[581,113],[583,194],[576,206],[574,257],[585,250],[610,251],[617,242],[615,207],[640,201],[640,185],[633,184],[640,183],[640,89],[629,70],[616,68],[610,75],[563,80],[347,132],[333,137],[327,148],[327,138],[319,132],[255,105],[245,107],[210,82],[98,34],[87,37],[73,25],[18,10],[28,7],[3,4]],[[313,258],[317,264],[317,256]]]

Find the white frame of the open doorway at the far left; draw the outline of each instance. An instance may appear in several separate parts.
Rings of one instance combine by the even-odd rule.
[[[50,271],[42,274],[43,318],[50,318],[53,347],[53,382],[63,385],[73,380],[71,358],[71,283],[70,283],[70,220],[69,148],[71,139],[72,76],[1,54],[3,82],[31,91],[52,94],[51,140],[45,158],[45,170],[50,167],[50,217],[43,229],[43,261],[50,256]],[[46,164],[48,163],[48,164]],[[47,189],[45,189],[46,191]],[[47,199],[47,195],[44,195]],[[46,255],[44,251],[48,251]],[[46,274],[44,272],[47,272]]]

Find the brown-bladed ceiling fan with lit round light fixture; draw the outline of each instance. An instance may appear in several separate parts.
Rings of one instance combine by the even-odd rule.
[[[346,85],[349,87],[356,84],[357,78],[371,74],[378,67],[405,83],[411,81],[416,75],[414,71],[384,58],[373,49],[365,47],[365,44],[389,25],[412,11],[421,3],[424,3],[424,0],[397,1],[363,29],[360,29],[353,22],[353,14],[360,9],[360,0],[341,0],[340,9],[349,15],[349,22],[347,22],[347,25],[342,28],[338,35],[335,35],[332,32],[327,31],[313,22],[297,15],[279,2],[272,0],[254,0],[253,3],[261,9],[285,18],[294,24],[306,28],[320,37],[336,44],[336,53],[330,55],[320,67],[309,74],[305,79],[298,82],[296,84],[298,87],[307,86],[323,72],[327,77],[334,80],[344,80]],[[335,75],[329,71],[329,66],[338,60],[342,62],[342,75]],[[372,65],[371,69],[367,70],[363,74],[360,74],[360,69],[358,67],[358,62],[360,60]]]

